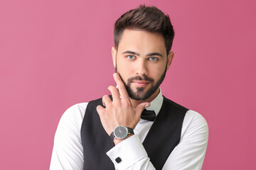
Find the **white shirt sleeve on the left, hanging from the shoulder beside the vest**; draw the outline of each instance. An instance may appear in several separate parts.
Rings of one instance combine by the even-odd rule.
[[[80,127],[87,103],[76,104],[63,113],[55,132],[50,170],[83,168]]]

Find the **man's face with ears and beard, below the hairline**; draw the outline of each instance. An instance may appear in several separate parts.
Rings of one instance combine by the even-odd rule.
[[[112,57],[129,97],[151,101],[159,93],[174,55],[171,52],[166,56],[162,35],[125,29],[118,50],[112,47]]]

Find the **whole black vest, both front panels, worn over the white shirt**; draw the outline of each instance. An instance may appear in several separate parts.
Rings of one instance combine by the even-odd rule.
[[[90,101],[87,104],[85,118],[82,120],[83,169],[114,170],[114,164],[106,154],[114,147],[114,143],[102,127],[100,116],[96,111],[98,105],[102,106],[102,98]],[[146,153],[156,169],[162,169],[169,154],[178,145],[183,118],[187,111],[187,108],[164,97],[161,110],[143,142]]]

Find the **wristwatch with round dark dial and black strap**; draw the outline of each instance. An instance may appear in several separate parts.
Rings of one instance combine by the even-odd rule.
[[[132,128],[119,125],[114,128],[114,131],[110,134],[110,139],[112,141],[114,140],[114,138],[122,140],[127,137],[128,134],[134,134]]]

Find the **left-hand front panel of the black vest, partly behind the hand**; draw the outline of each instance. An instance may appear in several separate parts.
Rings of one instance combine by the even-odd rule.
[[[114,147],[110,136],[104,130],[96,107],[102,105],[102,98],[87,104],[85,118],[82,121],[81,140],[84,154],[84,170],[112,169],[114,164],[107,156],[107,151]]]

